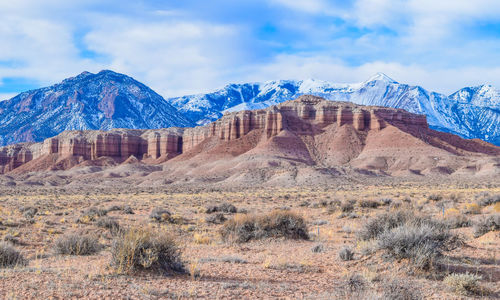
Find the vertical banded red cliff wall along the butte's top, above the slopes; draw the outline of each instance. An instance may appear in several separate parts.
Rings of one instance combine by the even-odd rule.
[[[415,130],[428,128],[423,115],[306,95],[267,109],[226,114],[202,127],[66,131],[43,143],[0,148],[0,173],[46,155],[78,157],[80,160],[112,157],[118,161],[134,156],[154,163],[157,159],[170,159],[187,152],[209,138],[236,140],[256,129],[262,129],[263,138],[267,139],[285,129],[298,134],[314,134],[332,124],[339,127],[350,125],[358,131],[381,130],[388,125]]]

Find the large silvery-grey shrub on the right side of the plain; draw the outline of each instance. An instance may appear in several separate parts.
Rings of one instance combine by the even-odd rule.
[[[454,236],[444,223],[411,212],[385,213],[369,220],[358,233],[361,240],[375,240],[377,249],[394,258],[406,258],[428,269]]]

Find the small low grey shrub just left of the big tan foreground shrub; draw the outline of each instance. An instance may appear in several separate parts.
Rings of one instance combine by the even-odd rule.
[[[95,236],[73,233],[58,238],[54,249],[58,254],[92,255],[99,252],[101,245]]]

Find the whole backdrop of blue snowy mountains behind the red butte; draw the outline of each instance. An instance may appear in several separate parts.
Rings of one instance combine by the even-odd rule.
[[[205,125],[224,113],[262,109],[306,94],[424,114],[433,129],[500,145],[500,92],[490,85],[447,96],[378,73],[355,84],[279,80],[229,84],[211,93],[164,99],[133,78],[109,70],[83,72],[0,102],[0,145],[39,142],[65,130]]]

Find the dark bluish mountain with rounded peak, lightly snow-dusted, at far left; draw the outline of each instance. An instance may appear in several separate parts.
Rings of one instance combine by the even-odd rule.
[[[0,145],[38,142],[64,130],[192,125],[144,84],[107,70],[83,72],[0,102]]]

